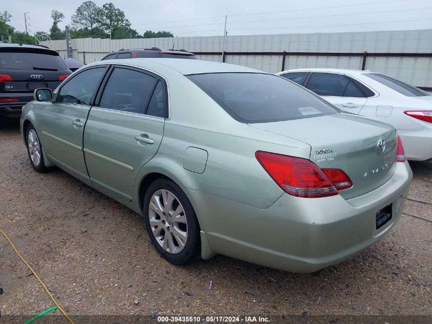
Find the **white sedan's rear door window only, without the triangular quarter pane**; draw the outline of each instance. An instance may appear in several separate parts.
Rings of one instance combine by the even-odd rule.
[[[342,74],[312,73],[306,88],[320,96],[343,97],[348,83]]]

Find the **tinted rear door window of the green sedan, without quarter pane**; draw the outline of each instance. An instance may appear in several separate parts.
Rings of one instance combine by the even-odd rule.
[[[142,72],[116,68],[106,83],[99,106],[144,114],[156,81]]]

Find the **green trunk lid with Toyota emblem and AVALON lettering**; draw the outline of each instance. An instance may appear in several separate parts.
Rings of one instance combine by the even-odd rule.
[[[339,191],[345,199],[378,188],[395,172],[396,130],[388,123],[335,114],[249,126],[307,143],[311,146],[309,159],[321,169],[346,172],[353,186]],[[380,152],[382,141],[385,148]]]

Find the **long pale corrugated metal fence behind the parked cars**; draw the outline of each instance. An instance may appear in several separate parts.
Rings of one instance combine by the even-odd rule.
[[[174,45],[175,42],[175,45]],[[64,40],[42,41],[66,55]],[[90,63],[121,48],[183,48],[190,52],[222,52],[223,36],[147,39],[80,38],[72,40],[73,57]],[[320,52],[320,53],[432,53],[432,29],[410,31],[313,33],[226,36],[225,52]],[[84,53],[85,52],[85,53]],[[222,61],[221,55],[198,55],[199,59]],[[225,62],[276,73],[282,55],[226,55]],[[285,70],[297,68],[361,69],[361,56],[287,55]],[[418,87],[432,87],[431,57],[368,56],[366,69],[397,77]]]

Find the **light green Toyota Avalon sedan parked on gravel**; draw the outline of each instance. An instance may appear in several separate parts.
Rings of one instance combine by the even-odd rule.
[[[176,265],[219,253],[317,271],[388,233],[412,179],[393,125],[225,63],[88,64],[36,90],[20,127],[36,171],[140,213]]]

